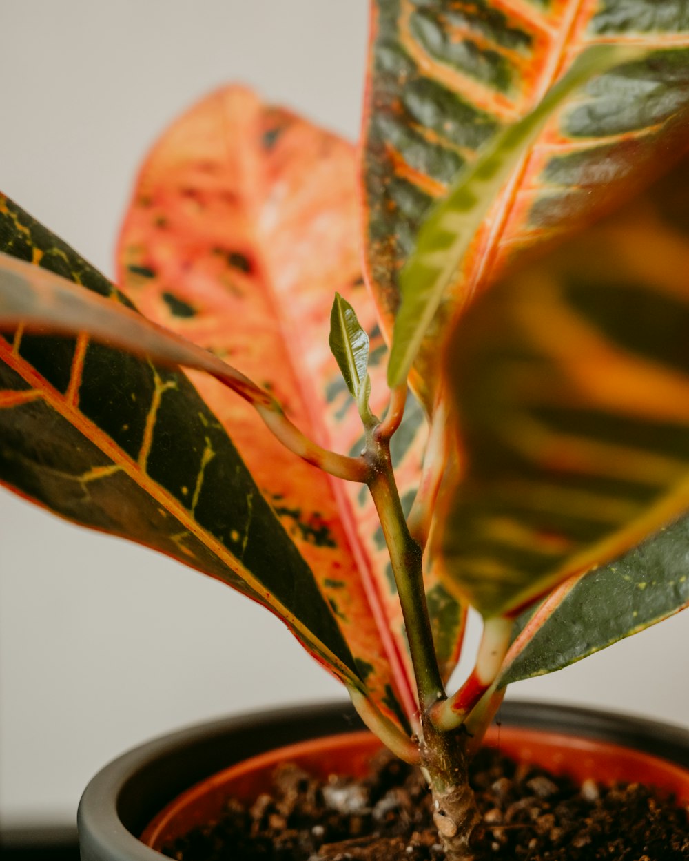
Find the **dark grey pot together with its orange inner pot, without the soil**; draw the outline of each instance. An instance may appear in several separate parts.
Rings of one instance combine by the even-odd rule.
[[[500,717],[488,743],[499,739],[500,749],[517,759],[579,779],[654,784],[689,803],[686,730],[537,703],[505,703]],[[331,772],[334,764],[342,773],[360,774],[378,747],[360,730],[347,706],[312,706],[204,724],[140,746],[106,766],[85,790],[78,814],[82,859],[154,861],[158,852],[140,839],[146,828],[147,841],[160,846],[212,818],[227,793],[255,796],[282,761],[285,752],[276,750],[282,746],[292,746],[289,759],[314,771]],[[295,747],[304,740],[312,741]],[[257,757],[251,766],[237,767],[251,757]]]

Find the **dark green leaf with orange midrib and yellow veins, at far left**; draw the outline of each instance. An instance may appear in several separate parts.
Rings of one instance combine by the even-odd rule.
[[[0,249],[37,263],[44,291],[53,282],[62,286],[50,274],[59,273],[107,297],[98,311],[110,306],[114,325],[127,316],[128,300],[6,197],[0,197]],[[15,293],[19,276],[8,277],[6,264],[3,272],[0,283],[9,281]],[[88,307],[73,299],[62,309]],[[164,341],[150,326],[137,336],[142,332],[153,332],[156,348]],[[180,349],[179,342],[173,347]],[[21,325],[0,337],[0,359],[3,485],[233,586],[282,617],[340,678],[363,687],[313,573],[183,374],[85,333],[34,335]]]

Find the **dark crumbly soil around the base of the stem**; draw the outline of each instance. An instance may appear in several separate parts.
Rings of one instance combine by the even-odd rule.
[[[581,786],[485,751],[475,761],[484,829],[476,861],[680,861],[689,859],[685,808],[639,784]],[[443,861],[419,772],[382,754],[371,777],[325,784],[294,765],[272,794],[236,801],[212,826],[164,853],[178,861]]]

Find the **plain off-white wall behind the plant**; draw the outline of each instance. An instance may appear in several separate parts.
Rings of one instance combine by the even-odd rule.
[[[0,187],[112,275],[140,158],[183,108],[245,81],[357,136],[365,0],[22,0],[0,9]],[[189,722],[344,699],[227,587],[0,491],[0,815],[73,821],[128,746]],[[677,616],[509,696],[689,725]],[[475,637],[472,637],[474,640]]]

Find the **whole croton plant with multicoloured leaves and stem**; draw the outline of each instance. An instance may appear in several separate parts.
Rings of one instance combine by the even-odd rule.
[[[119,286],[0,197],[0,479],[280,616],[469,858],[506,685],[689,601],[689,15],[371,6],[359,146],[208,96]]]

